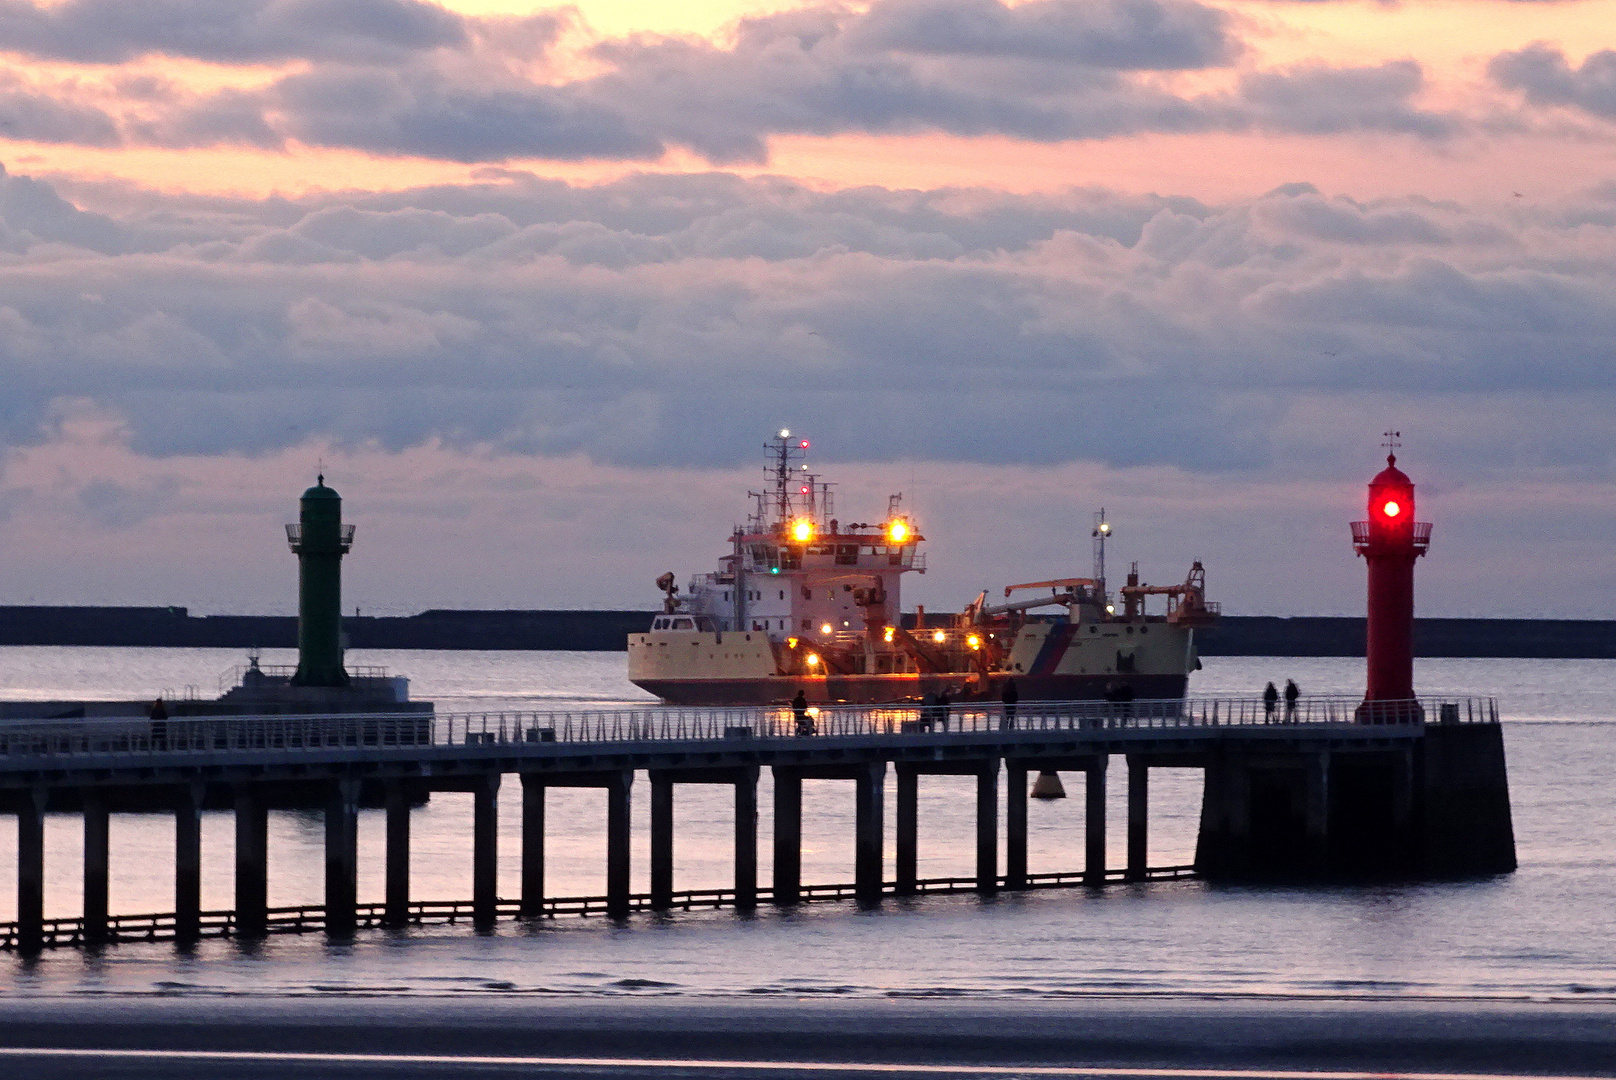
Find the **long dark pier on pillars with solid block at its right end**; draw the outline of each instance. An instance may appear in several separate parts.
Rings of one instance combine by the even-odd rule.
[[[1387,723],[1374,723],[1374,721]],[[1113,757],[1126,771],[1126,865],[1105,865],[1105,783]],[[758,778],[771,770],[774,868],[758,881]],[[1206,776],[1193,867],[1146,865],[1151,768]],[[1004,797],[999,773],[1007,784]],[[1086,776],[1084,865],[1028,873],[1028,773]],[[918,776],[974,776],[976,873],[920,880]],[[522,805],[520,896],[496,891],[496,808],[516,776]],[[650,892],[630,888],[630,799],[643,776],[651,799]],[[895,878],[886,880],[886,784],[895,783]],[[856,799],[853,881],[805,884],[800,873],[802,781],[852,781]],[[734,886],[679,892],[674,799],[680,784],[734,789]],[[608,873],[601,897],[551,897],[545,888],[545,794],[596,787],[608,805]],[[473,794],[469,902],[409,896],[410,807],[438,791]],[[507,789],[509,791],[509,789]],[[357,810],[386,808],[385,897],[357,897]],[[1002,805],[1000,805],[1002,804]],[[267,905],[267,812],[325,812],[325,904]],[[176,815],[175,912],[107,910],[110,813],[162,807]],[[204,807],[236,818],[234,909],[204,912]],[[78,920],[45,918],[44,815],[84,815],[84,905]],[[693,905],[798,904],[928,891],[1146,881],[1319,880],[1361,875],[1466,876],[1514,868],[1508,781],[1496,703],[1485,698],[1377,702],[1260,700],[1026,702],[1002,707],[823,708],[797,734],[781,708],[621,711],[199,716],[165,721],[6,721],[0,724],[0,812],[18,821],[18,918],[0,943],[19,952],[48,944],[129,938],[259,938],[284,930],[352,934],[465,918],[603,913]],[[1000,852],[1000,841],[1004,844]],[[1000,859],[1002,854],[1002,859]],[[1000,870],[1002,862],[1002,870]],[[217,870],[217,868],[215,868]]]

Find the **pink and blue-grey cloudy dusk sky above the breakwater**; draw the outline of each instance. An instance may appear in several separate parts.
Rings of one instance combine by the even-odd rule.
[[[905,606],[1616,606],[1616,0],[0,0],[0,603],[650,608],[781,427]]]

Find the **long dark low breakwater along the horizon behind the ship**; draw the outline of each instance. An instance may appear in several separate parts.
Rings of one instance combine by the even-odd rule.
[[[433,610],[344,616],[349,648],[622,652],[651,611]],[[942,619],[942,613],[928,616]],[[915,616],[903,624],[913,629]],[[1362,656],[1364,619],[1225,614],[1196,632],[1206,656]],[[186,608],[0,606],[0,645],[296,648],[297,618]],[[1417,656],[1616,660],[1613,619],[1416,619]]]

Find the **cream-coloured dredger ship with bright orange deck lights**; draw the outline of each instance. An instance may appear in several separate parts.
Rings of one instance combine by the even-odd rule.
[[[1094,517],[1094,571],[981,592],[960,613],[902,614],[905,574],[926,572],[926,537],[887,500],[873,522],[842,522],[831,483],[810,470],[810,441],[781,430],[766,446],[768,483],[734,527],[718,569],[680,592],[656,579],[663,611],[629,635],[629,679],[674,705],[779,705],[798,690],[816,705],[936,700],[1025,702],[1180,698],[1201,666],[1206,600],[1196,561],[1180,584],[1141,584],[1133,564],[1105,587],[1105,511]],[[1147,611],[1160,603],[1164,610]]]

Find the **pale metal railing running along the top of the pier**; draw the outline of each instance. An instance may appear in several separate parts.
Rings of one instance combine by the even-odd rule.
[[[0,723],[0,763],[60,755],[315,752],[328,749],[621,744],[671,740],[898,737],[994,732],[1037,737],[1060,731],[1162,731],[1319,724],[1498,723],[1493,698],[1374,702],[1309,697],[1004,705],[837,705],[798,721],[789,707],[625,708],[444,715],[183,716],[170,719],[13,719]],[[538,750],[538,745],[530,745]]]

